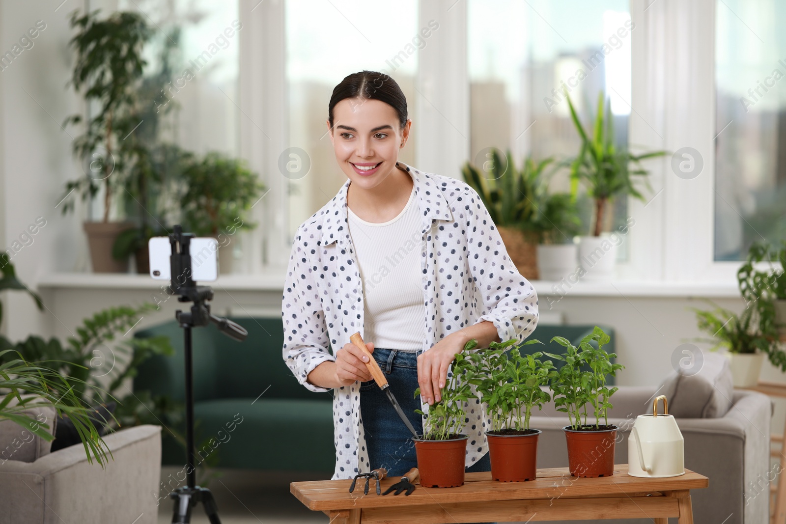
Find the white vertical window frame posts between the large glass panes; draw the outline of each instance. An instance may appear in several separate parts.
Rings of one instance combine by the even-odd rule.
[[[241,156],[270,188],[264,205],[252,210],[259,229],[243,233],[251,251],[244,262],[250,273],[262,273],[285,268],[292,243],[285,234],[285,179],[277,176],[277,152],[288,137],[285,0],[239,2],[248,25],[241,32]],[[454,177],[468,156],[468,140],[461,140],[469,136],[466,11],[456,0],[418,4],[418,24],[435,19],[440,30],[418,57],[417,166]],[[715,262],[713,255],[715,0],[630,0],[630,16],[629,143],[669,152],[696,148],[703,170],[684,180],[671,172],[670,155],[648,161],[653,192],[647,202],[628,199],[636,224],[627,237],[629,261],[618,264],[617,277],[728,284],[740,262]]]

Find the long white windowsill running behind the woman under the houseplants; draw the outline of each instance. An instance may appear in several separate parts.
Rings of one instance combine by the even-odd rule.
[[[214,291],[277,291],[284,287],[284,272],[271,269],[255,275],[219,275],[215,282],[204,282]],[[736,281],[666,281],[626,280],[588,281],[578,284],[532,280],[539,296],[601,296],[630,299],[669,297],[709,297],[736,299],[740,297]],[[131,273],[50,273],[39,280],[42,289],[160,289],[165,280]]]

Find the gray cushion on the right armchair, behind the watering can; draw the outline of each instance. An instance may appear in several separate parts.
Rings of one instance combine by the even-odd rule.
[[[734,387],[729,360],[717,353],[704,353],[699,372],[671,372],[659,388],[666,395],[669,414],[685,419],[716,419],[732,406]]]

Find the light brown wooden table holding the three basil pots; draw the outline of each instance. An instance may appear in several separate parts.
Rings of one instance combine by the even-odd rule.
[[[351,480],[292,482],[289,490],[310,510],[324,511],[330,524],[570,519],[654,519],[668,524],[668,517],[679,517],[680,524],[693,522],[689,489],[706,488],[707,477],[685,470],[679,477],[637,478],[627,471],[627,464],[617,464],[611,477],[575,478],[567,467],[554,467],[538,469],[538,478],[527,482],[498,482],[483,471],[465,474],[464,486],[417,486],[408,497],[377,495],[370,483],[369,494],[363,495],[365,478],[358,479],[353,493]],[[381,493],[399,479],[385,478]]]

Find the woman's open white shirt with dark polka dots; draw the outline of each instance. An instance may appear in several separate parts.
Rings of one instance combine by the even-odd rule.
[[[423,350],[481,321],[493,323],[501,340],[523,342],[538,323],[538,295],[510,261],[478,194],[455,178],[398,165],[413,178],[421,214]],[[307,383],[306,377],[322,362],[336,360],[331,348],[349,343],[354,332],[363,334],[362,280],[347,226],[349,183],[297,229],[286,273],[283,357],[299,383],[312,391],[328,390]],[[372,469],[365,453],[359,389],[360,383],[354,383],[333,390],[332,479]],[[422,406],[428,412],[428,404]],[[464,433],[476,442],[467,449],[465,464],[471,466],[487,452],[483,431],[490,419],[487,406],[476,399],[464,408]]]

